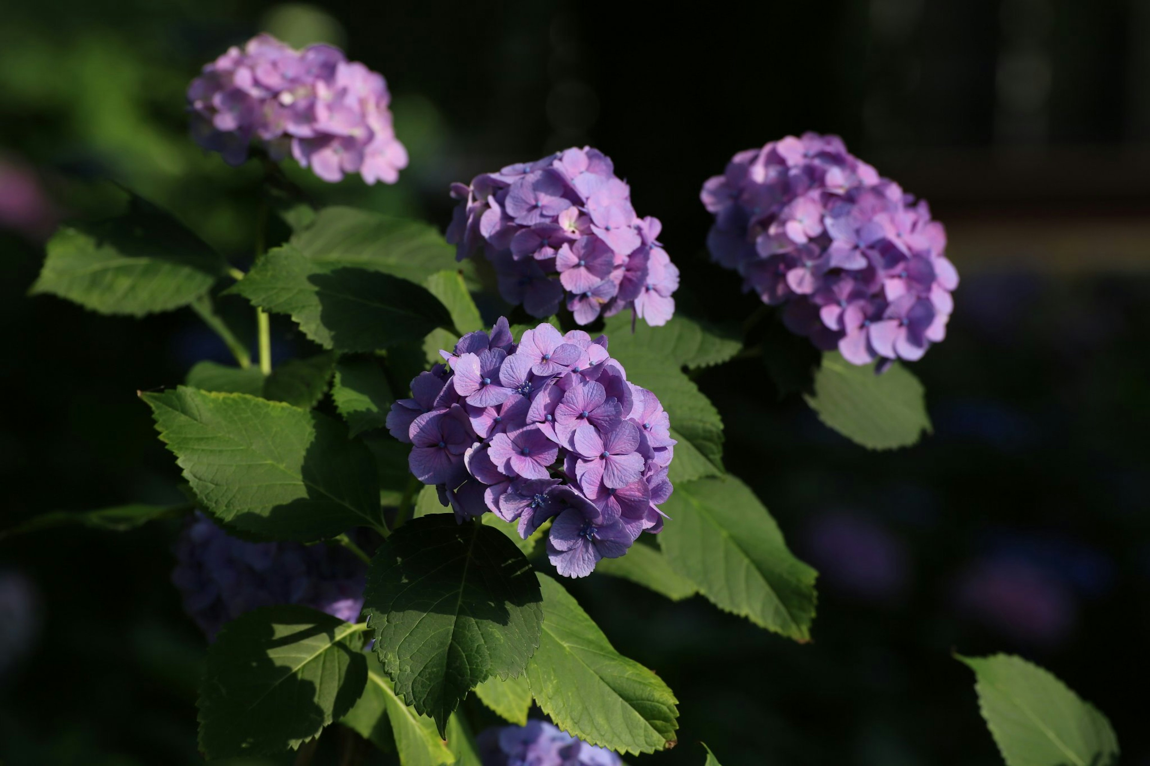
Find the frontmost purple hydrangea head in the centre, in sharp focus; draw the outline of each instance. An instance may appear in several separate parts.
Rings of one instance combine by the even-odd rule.
[[[544,323],[516,344],[500,317],[440,353],[446,363],[412,381],[386,424],[457,516],[491,511],[523,538],[554,518],[547,554],[570,577],[662,529],[670,421],[654,393],[627,381],[606,336]]]

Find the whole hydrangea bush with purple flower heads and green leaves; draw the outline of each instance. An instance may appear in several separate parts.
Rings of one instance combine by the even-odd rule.
[[[290,155],[332,183],[393,183],[407,162],[382,76],[329,46],[259,36],[205,67],[189,100],[193,136],[231,163],[253,141],[267,162]],[[836,138],[736,154],[703,194],[713,256],[828,350],[813,367],[760,342],[758,313],[676,312],[660,223],[637,216],[597,150],[450,191],[446,237],[327,207],[285,212],[290,235],[268,242],[261,214],[247,271],[136,196],[47,245],[33,293],[102,314],[189,308],[235,357],[139,395],[182,500],[47,513],[15,530],[168,520],[171,598],[210,639],[207,759],[298,750],[307,764],[323,743],[363,741],[404,766],[619,766],[666,750],[680,729],[673,674],[638,661],[656,651],[615,650],[568,577],[698,595],[799,642],[816,600],[814,569],[726,469],[722,419],[739,413],[704,390],[762,401],[800,390],[872,449],[929,430],[922,385],[896,359],[942,339],[958,282],[943,229]],[[499,297],[476,301],[489,267]],[[250,305],[250,332],[224,301]],[[298,330],[300,357],[273,359],[269,314]],[[512,324],[526,316],[545,321]],[[861,367],[875,360],[882,375]],[[1082,733],[1075,763],[1117,753],[1105,719],[1052,676],[1014,658],[965,661],[1010,763],[1057,730]],[[1026,715],[1010,710],[1019,699]],[[471,736],[497,717],[512,726]]]

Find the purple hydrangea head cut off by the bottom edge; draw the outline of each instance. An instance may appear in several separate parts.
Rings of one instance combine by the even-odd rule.
[[[527,726],[501,726],[476,737],[483,766],[621,766],[606,748],[576,740],[557,727],[531,719]]]

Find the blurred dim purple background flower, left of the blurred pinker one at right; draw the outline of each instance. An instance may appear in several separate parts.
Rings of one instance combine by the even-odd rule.
[[[873,519],[827,511],[807,522],[802,539],[821,581],[845,595],[894,602],[910,584],[906,544]]]

